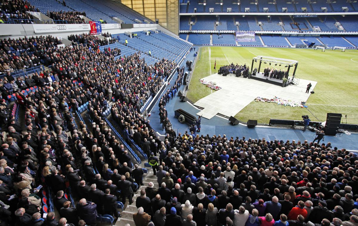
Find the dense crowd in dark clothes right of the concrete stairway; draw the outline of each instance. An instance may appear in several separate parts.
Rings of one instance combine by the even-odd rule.
[[[185,132],[168,134],[158,158],[152,142],[159,188],[150,182],[141,190],[136,225],[358,225],[355,153]]]

